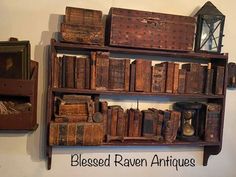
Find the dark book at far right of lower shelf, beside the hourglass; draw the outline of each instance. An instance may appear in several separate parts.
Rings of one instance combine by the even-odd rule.
[[[206,105],[205,141],[219,141],[220,117],[221,105],[215,103],[208,103]]]

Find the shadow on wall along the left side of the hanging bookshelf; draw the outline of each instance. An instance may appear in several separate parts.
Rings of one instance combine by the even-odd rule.
[[[27,153],[33,161],[41,161],[46,158],[46,111],[47,111],[47,85],[48,85],[48,60],[50,59],[50,41],[58,38],[58,31],[63,20],[63,15],[51,14],[49,16],[48,31],[43,31],[38,45],[35,46],[34,60],[39,62],[38,76],[38,129],[28,135]]]

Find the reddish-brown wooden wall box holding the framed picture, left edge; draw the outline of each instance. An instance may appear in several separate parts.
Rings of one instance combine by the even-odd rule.
[[[29,100],[29,111],[0,114],[0,130],[35,130],[37,124],[38,63],[31,61],[31,79],[0,79],[0,98],[17,97]]]

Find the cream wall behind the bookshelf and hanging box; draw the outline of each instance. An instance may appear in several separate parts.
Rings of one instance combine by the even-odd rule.
[[[226,15],[223,51],[229,53],[229,61],[235,62],[236,51],[236,15],[234,0],[212,0]],[[47,78],[47,56],[50,39],[59,30],[59,21],[66,6],[75,6],[102,10],[108,13],[110,7],[124,7],[179,15],[194,14],[205,1],[203,0],[1,0],[0,1],[0,40],[10,36],[20,40],[30,40],[32,59],[39,62],[38,122],[39,128],[27,134],[0,134],[0,174],[3,177],[60,177],[60,176],[182,176],[182,177],[235,177],[234,160],[236,159],[236,91],[227,91],[226,114],[224,125],[223,149],[217,156],[211,156],[207,167],[201,166],[202,149],[200,148],[65,148],[54,149],[52,170],[46,170],[45,160],[45,98]],[[119,99],[119,98],[118,98]],[[126,158],[145,158],[149,161],[155,154],[160,157],[194,158],[195,167],[182,167],[176,171],[173,167],[70,167],[70,154],[83,153],[84,157],[106,158],[116,153]]]

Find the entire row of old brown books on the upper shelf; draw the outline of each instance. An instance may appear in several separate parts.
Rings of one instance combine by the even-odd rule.
[[[130,92],[223,94],[223,66],[111,58],[109,52],[90,57],[53,59],[52,86]]]

